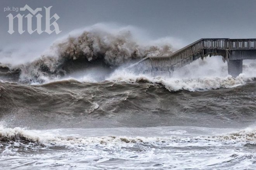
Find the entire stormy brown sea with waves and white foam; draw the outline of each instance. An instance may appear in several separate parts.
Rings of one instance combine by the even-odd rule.
[[[95,35],[2,58],[0,169],[256,169],[256,61],[236,78],[221,56],[153,76],[128,66],[171,48]]]

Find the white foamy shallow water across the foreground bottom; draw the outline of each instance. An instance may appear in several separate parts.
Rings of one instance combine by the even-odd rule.
[[[181,130],[176,130],[181,129]],[[200,136],[198,132],[211,134]],[[113,129],[106,129],[110,133]],[[119,129],[125,132],[127,129]],[[253,168],[256,130],[246,128],[212,135],[231,129],[201,127],[133,128],[131,131],[165,131],[164,136],[97,136],[104,129],[0,128],[2,167],[22,169],[243,169]],[[86,132],[88,131],[88,135]],[[72,134],[71,134],[72,132]],[[200,133],[201,133],[200,132]],[[77,133],[77,134],[75,134]],[[69,135],[67,135],[69,134]],[[96,135],[96,136],[95,136]],[[199,136],[198,136],[199,135]],[[13,138],[15,141],[12,141]],[[22,138],[21,138],[22,137]],[[24,138],[26,140],[24,141]],[[20,141],[19,141],[20,139]],[[22,141],[23,139],[23,141]],[[37,145],[40,144],[40,145]],[[43,144],[43,146],[41,145]],[[252,146],[253,147],[253,146]]]

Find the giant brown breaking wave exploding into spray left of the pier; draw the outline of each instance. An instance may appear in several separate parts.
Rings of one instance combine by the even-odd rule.
[[[19,82],[43,83],[48,78],[54,79],[93,66],[115,68],[145,56],[166,56],[172,52],[168,43],[152,45],[138,42],[129,29],[109,31],[94,27],[56,41],[47,53],[34,61],[21,65],[0,63],[0,68],[19,74]],[[7,67],[10,70],[6,71]]]

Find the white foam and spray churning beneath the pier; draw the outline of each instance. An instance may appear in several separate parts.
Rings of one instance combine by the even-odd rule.
[[[212,57],[205,61],[194,61],[194,63],[174,71],[173,76],[136,74],[132,70],[119,69],[112,73],[107,80],[128,83],[143,81],[160,83],[170,91],[234,88],[256,78],[255,62],[253,60],[244,61],[244,72],[236,78],[228,75],[227,63],[223,63],[220,57]]]

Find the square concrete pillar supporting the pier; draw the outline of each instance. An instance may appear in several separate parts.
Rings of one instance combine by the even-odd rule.
[[[228,74],[233,77],[237,77],[240,73],[243,72],[243,60],[235,59],[228,61]]]

